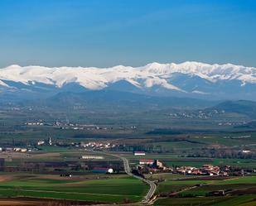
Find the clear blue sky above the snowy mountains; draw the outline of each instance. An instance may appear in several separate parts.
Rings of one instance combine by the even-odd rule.
[[[0,1],[0,67],[256,66],[255,50],[256,1]]]

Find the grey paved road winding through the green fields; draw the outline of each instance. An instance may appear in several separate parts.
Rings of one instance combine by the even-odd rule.
[[[128,159],[126,159],[124,156],[119,156],[119,155],[116,155],[116,154],[111,154],[111,153],[103,152],[103,151],[93,151],[93,152],[101,153],[101,154],[108,155],[108,156],[115,156],[115,157],[117,157],[117,158],[123,160],[123,166],[124,166],[125,172],[126,172],[128,175],[137,178],[138,180],[142,180],[143,182],[145,182],[146,184],[148,184],[149,187],[150,187],[150,189],[148,190],[146,196],[144,197],[144,199],[142,200],[141,203],[142,203],[142,204],[150,204],[150,203],[151,203],[151,199],[152,199],[152,197],[153,197],[153,195],[155,194],[156,189],[157,189],[157,184],[155,184],[155,183],[154,183],[153,181],[151,181],[151,180],[143,179],[143,178],[140,177],[140,176],[133,175],[133,173],[131,172],[131,169],[130,169],[130,165],[129,165]]]

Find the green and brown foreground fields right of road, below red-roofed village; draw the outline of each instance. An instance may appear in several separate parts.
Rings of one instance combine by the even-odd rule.
[[[153,178],[159,178],[156,175]],[[244,205],[256,204],[256,176],[244,177],[190,177],[164,175],[157,194],[165,195],[154,205]],[[210,193],[224,190],[224,196]]]

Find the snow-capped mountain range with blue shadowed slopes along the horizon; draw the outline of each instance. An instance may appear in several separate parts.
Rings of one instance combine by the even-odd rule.
[[[256,99],[256,68],[194,61],[110,68],[10,65],[0,69],[0,88],[2,92],[114,89],[165,96]]]

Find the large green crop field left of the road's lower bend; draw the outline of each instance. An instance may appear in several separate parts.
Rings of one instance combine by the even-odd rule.
[[[147,192],[147,185],[126,175],[105,180],[60,178],[57,175],[2,176],[1,198],[36,197],[75,199],[104,203],[136,202]]]

